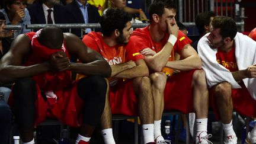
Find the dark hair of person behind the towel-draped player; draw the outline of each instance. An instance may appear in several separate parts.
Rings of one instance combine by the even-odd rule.
[[[215,16],[216,13],[213,11],[205,11],[197,15],[195,23],[200,36],[204,35],[204,26],[208,26],[210,18]]]

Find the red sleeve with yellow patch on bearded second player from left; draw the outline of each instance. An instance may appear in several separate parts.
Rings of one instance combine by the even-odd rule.
[[[135,43],[129,43],[125,46],[126,49],[126,62],[129,60],[133,60],[136,62],[136,60],[144,59],[144,57],[139,53],[139,50],[136,47]]]

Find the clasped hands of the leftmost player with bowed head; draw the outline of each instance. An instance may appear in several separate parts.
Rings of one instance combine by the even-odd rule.
[[[71,62],[64,52],[56,52],[49,58],[49,65],[52,71],[66,71]]]

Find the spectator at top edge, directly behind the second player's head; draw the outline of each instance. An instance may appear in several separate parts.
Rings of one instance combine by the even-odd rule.
[[[104,7],[103,7],[103,14],[105,14],[105,11],[107,11],[108,8],[118,8],[118,9],[124,9],[125,11],[129,12],[130,14],[140,14],[140,17],[142,17],[142,20],[146,19],[145,13],[142,11],[142,9],[133,9],[126,7],[126,0],[110,0],[105,1]],[[133,15],[132,23],[142,23],[140,20],[136,20],[135,15]]]

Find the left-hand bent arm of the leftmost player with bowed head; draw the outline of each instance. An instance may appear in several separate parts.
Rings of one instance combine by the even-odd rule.
[[[11,83],[18,78],[31,77],[49,71],[49,63],[21,66],[23,58],[30,53],[30,39],[21,34],[13,42],[9,52],[0,61],[0,83]]]

